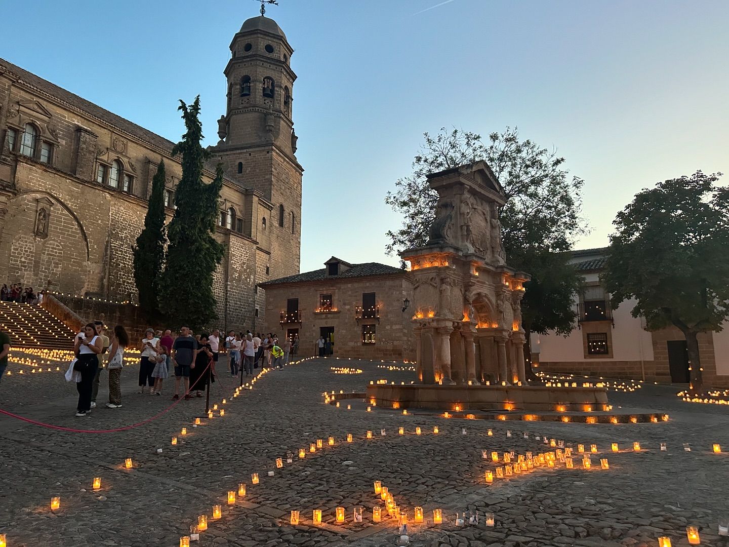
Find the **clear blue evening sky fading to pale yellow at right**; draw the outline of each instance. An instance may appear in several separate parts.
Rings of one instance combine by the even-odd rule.
[[[301,269],[386,257],[383,203],[424,131],[517,125],[585,179],[592,227],[658,180],[729,171],[729,2],[280,0],[296,53]],[[5,10],[7,15],[7,9]],[[41,0],[3,24],[0,56],[176,141],[177,99],[225,112],[228,45],[252,0]],[[18,12],[17,21],[23,20]],[[20,19],[18,19],[20,18]]]

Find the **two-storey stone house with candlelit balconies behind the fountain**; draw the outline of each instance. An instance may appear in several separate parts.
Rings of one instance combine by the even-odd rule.
[[[331,257],[324,268],[259,284],[266,292],[265,332],[293,338],[316,354],[319,336],[335,357],[413,360],[408,271]]]

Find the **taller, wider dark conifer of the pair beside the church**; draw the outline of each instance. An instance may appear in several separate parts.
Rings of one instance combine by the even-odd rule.
[[[165,312],[175,324],[185,323],[199,330],[217,317],[213,274],[225,249],[213,234],[223,171],[218,165],[213,182],[203,182],[209,152],[200,146],[200,96],[190,106],[180,101],[179,110],[187,132],[172,150],[172,155],[182,155],[182,178],[175,193],[177,208],[168,227],[170,244],[162,294]]]

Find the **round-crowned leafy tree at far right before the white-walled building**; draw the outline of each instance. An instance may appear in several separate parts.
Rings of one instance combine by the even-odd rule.
[[[714,185],[720,176],[697,171],[636,194],[613,221],[602,275],[612,306],[634,298],[633,317],[649,330],[684,333],[695,393],[703,392],[696,335],[729,319],[729,188]]]

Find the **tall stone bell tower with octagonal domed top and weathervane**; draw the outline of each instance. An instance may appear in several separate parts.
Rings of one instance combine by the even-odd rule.
[[[224,71],[220,140],[209,149],[246,195],[244,233],[265,251],[257,282],[299,273],[303,168],[295,156],[293,53],[275,20],[259,15],[243,23]]]

